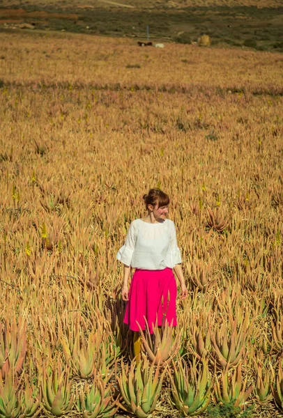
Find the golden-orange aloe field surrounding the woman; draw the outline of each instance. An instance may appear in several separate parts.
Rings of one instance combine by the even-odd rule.
[[[0,417],[282,417],[282,54],[0,39]],[[151,187],[189,296],[137,363],[116,253]]]

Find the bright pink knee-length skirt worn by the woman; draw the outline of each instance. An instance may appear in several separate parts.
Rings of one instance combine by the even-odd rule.
[[[155,325],[176,326],[176,296],[177,285],[173,270],[135,270],[130,284],[129,300],[125,308],[124,323],[130,330],[139,331],[146,328],[146,321],[150,332]]]

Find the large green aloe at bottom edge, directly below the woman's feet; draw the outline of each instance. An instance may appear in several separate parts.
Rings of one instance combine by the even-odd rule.
[[[162,381],[166,369],[160,373],[160,364],[151,366],[142,356],[139,364],[135,360],[130,367],[121,364],[121,376],[117,376],[118,386],[126,404],[128,412],[132,412],[139,418],[146,418],[155,410],[158,403]],[[123,406],[122,406],[123,408]]]

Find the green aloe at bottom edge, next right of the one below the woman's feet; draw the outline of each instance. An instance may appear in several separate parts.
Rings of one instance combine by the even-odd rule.
[[[172,403],[185,417],[200,415],[211,399],[212,379],[208,362],[193,359],[190,367],[179,360],[173,363],[174,376],[168,373],[172,387]]]

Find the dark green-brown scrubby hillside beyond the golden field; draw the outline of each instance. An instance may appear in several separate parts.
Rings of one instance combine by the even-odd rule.
[[[281,0],[3,0],[1,4],[0,31],[71,31],[143,40],[148,27],[153,42],[190,44],[205,33],[214,46],[283,51]]]

